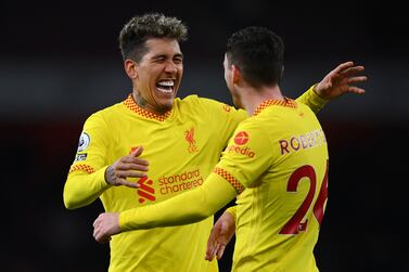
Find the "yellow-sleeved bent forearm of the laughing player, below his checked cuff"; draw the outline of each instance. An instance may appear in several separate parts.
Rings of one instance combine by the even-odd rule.
[[[76,209],[94,202],[111,185],[105,182],[105,169],[92,173],[68,174],[64,186],[64,205]]]

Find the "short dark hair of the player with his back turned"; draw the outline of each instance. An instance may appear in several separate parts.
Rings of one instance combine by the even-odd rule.
[[[284,64],[282,39],[266,27],[250,26],[234,33],[227,42],[227,61],[255,88],[279,85]]]

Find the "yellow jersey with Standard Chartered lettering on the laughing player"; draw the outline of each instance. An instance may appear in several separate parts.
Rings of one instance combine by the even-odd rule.
[[[123,211],[192,190],[203,184],[246,117],[244,111],[196,95],[177,99],[168,114],[156,116],[129,96],[88,118],[64,193],[78,202],[77,207],[108,187],[100,195],[105,210]],[[144,147],[141,157],[150,161],[148,178],[136,180],[139,189],[110,187],[103,176],[106,166],[139,145]],[[89,180],[93,182],[85,186]],[[116,235],[111,241],[110,271],[217,271],[216,261],[204,260],[212,225],[213,217],[190,225]]]

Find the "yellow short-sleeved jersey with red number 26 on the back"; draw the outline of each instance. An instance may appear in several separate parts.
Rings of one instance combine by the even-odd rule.
[[[266,101],[239,125],[215,168],[242,191],[233,271],[318,271],[327,147],[314,113],[292,100]]]

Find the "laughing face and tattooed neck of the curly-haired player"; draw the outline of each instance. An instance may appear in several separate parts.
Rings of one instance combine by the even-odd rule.
[[[148,52],[141,61],[127,60],[125,67],[132,78],[138,105],[151,113],[164,114],[174,105],[183,74],[183,55],[175,39],[152,38],[145,46]]]

